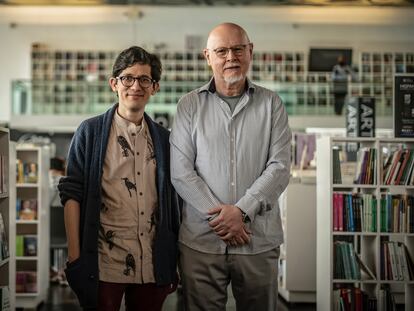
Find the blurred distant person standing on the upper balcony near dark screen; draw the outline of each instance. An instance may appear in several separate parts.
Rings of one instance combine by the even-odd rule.
[[[333,95],[334,95],[334,109],[336,115],[342,114],[342,109],[345,104],[345,99],[348,94],[348,79],[355,78],[355,73],[352,68],[345,63],[343,55],[339,55],[337,64],[332,69]]]

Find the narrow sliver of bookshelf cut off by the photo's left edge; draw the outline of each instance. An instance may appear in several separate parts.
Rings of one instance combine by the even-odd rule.
[[[0,128],[0,310],[11,310],[9,130]]]

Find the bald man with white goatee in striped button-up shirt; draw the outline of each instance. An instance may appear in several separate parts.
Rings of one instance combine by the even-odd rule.
[[[171,177],[184,200],[186,310],[225,310],[230,283],[237,310],[276,310],[291,132],[280,97],[247,78],[252,55],[243,28],[218,25],[204,49],[213,77],[178,103]]]

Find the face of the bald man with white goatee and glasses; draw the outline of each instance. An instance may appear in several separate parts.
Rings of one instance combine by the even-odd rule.
[[[221,48],[230,48],[226,56],[217,53]],[[242,52],[236,52],[242,49]],[[210,34],[204,55],[213,70],[216,86],[244,83],[250,62],[253,44],[238,28],[221,27]]]

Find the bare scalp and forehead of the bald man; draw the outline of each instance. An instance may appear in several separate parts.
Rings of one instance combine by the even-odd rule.
[[[227,44],[247,44],[250,42],[246,31],[237,24],[223,23],[216,26],[208,35],[207,48],[215,49],[222,46],[223,42]]]

